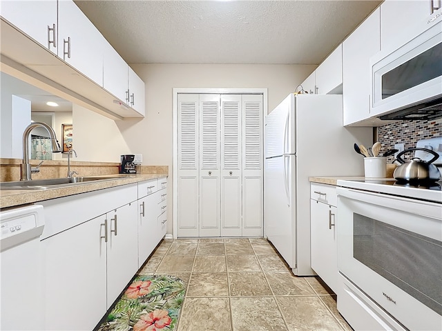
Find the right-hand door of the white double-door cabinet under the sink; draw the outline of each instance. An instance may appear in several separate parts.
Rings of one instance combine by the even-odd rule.
[[[107,308],[138,270],[137,203],[128,203],[106,214]]]

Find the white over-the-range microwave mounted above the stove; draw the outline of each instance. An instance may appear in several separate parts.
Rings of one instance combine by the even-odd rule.
[[[372,116],[431,119],[442,116],[442,21],[387,54],[370,59]]]

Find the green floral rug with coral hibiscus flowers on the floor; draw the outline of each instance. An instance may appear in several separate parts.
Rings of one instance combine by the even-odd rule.
[[[137,275],[95,331],[174,330],[185,291],[179,278]]]

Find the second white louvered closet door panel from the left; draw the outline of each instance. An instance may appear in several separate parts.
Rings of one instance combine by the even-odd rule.
[[[220,235],[220,95],[200,94],[200,237]]]

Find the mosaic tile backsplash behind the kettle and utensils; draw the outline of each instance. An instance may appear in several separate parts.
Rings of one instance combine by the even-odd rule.
[[[428,121],[398,121],[378,127],[381,153],[394,148],[395,143],[403,143],[405,149],[414,148],[421,139],[439,136],[442,136],[442,117]],[[392,161],[394,158],[389,159]]]

